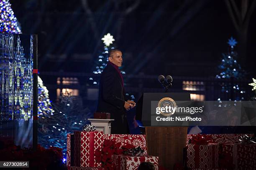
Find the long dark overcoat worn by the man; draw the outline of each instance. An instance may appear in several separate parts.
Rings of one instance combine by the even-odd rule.
[[[125,101],[121,77],[114,66],[108,64],[100,76],[97,112],[109,112],[111,119],[115,119],[111,123],[113,134],[127,133],[126,110],[123,107]]]

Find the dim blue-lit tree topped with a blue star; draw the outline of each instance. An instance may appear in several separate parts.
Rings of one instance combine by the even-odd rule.
[[[228,40],[229,52],[223,53],[221,64],[218,66],[220,73],[216,75],[218,79],[230,80],[231,83],[222,83],[221,90],[225,93],[232,93],[233,97],[229,97],[228,99],[218,99],[218,100],[244,100],[244,96],[246,91],[241,89],[238,84],[235,82],[232,83],[232,80],[241,80],[245,76],[245,71],[241,68],[240,64],[238,64],[238,53],[234,50],[237,41],[231,37]],[[230,95],[229,95],[230,96]]]

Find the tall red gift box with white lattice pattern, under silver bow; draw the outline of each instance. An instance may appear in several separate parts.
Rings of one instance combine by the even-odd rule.
[[[103,132],[74,131],[74,154],[71,152],[74,165],[72,163],[71,165],[76,167],[101,167],[101,163],[96,163],[95,151],[101,150],[102,146]]]

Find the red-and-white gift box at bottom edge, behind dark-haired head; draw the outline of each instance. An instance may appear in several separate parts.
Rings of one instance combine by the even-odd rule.
[[[112,155],[112,161],[116,170],[137,170],[143,162],[153,163],[158,170],[158,157],[156,156]]]

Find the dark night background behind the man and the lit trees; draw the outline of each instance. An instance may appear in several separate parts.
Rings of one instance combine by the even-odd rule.
[[[87,7],[84,5],[87,2]],[[241,10],[241,0],[235,0]],[[252,1],[248,1],[251,6]],[[57,77],[78,77],[84,102],[101,38],[110,32],[122,50],[126,91],[135,95],[161,91],[157,76],[174,77],[172,91],[182,91],[183,80],[214,82],[221,53],[228,39],[238,40],[238,62],[248,72],[244,77],[248,95],[255,77],[256,13],[250,18],[247,46],[241,49],[238,32],[223,0],[10,0],[25,34],[38,34],[39,75],[56,99]],[[134,8],[129,12],[130,7]],[[242,52],[241,52],[242,51]],[[246,54],[244,56],[239,55]],[[127,79],[131,75],[133,78]],[[137,77],[134,77],[137,76]],[[97,78],[97,76],[96,76]],[[205,82],[206,84],[207,82]],[[207,89],[207,88],[206,88]],[[201,92],[206,95],[207,90]],[[208,95],[210,96],[210,95]]]

